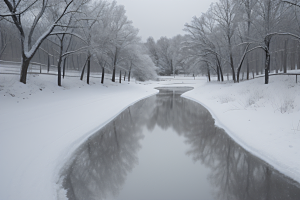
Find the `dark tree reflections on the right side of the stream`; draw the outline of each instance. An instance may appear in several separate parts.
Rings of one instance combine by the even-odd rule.
[[[272,170],[237,145],[223,129],[215,126],[211,114],[201,105],[180,98],[172,91],[157,95],[151,124],[172,127],[187,138],[187,152],[211,169],[210,182],[216,198],[230,200],[299,199],[299,184]]]

